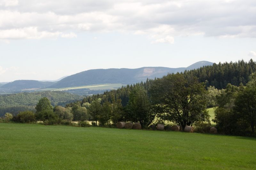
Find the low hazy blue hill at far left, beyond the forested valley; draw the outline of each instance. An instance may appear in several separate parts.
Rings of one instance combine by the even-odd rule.
[[[22,90],[22,89],[42,89],[48,86],[51,86],[55,82],[49,81],[36,81],[36,80],[16,80],[1,86],[3,89],[15,89],[15,90]]]

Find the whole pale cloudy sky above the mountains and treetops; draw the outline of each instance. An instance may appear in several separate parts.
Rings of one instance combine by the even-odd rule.
[[[0,0],[0,82],[251,58],[255,0]]]

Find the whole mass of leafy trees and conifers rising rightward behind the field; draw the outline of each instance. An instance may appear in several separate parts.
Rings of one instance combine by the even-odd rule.
[[[237,71],[231,66],[247,66],[248,69]],[[225,73],[219,74],[224,68],[227,69]],[[94,125],[100,126],[131,121],[139,122],[142,128],[148,128],[157,121],[177,124],[182,129],[187,125],[203,129],[211,126],[207,107],[215,107],[213,121],[220,133],[255,135],[256,73],[247,75],[254,69],[252,59],[248,63],[242,60],[235,64],[215,64],[84,97],[82,101],[66,104],[65,107],[53,107],[49,99],[44,97],[36,105],[34,121],[54,124],[61,120],[92,120]],[[206,71],[207,79],[203,80],[202,76],[196,76],[196,73],[201,73],[200,70],[212,72]],[[228,73],[239,78],[239,81],[234,81],[235,85],[228,83],[230,78],[225,80]],[[218,81],[218,88],[209,85],[214,77],[212,75],[216,76],[216,81],[218,76],[218,80],[225,80],[225,88],[218,89],[226,83],[224,81]]]

